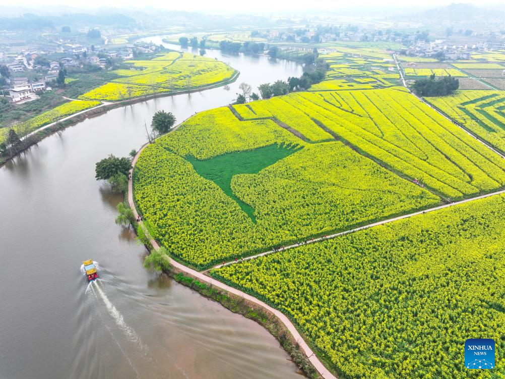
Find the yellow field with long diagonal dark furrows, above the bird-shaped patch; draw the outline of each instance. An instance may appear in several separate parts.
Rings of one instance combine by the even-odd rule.
[[[324,96],[291,94],[284,100],[367,156],[443,196],[471,196],[505,183],[499,156],[409,93],[338,91],[331,93],[334,101]]]

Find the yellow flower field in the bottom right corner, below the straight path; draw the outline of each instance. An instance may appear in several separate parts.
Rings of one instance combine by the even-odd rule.
[[[340,377],[502,377],[504,240],[501,195],[211,273],[288,315]],[[466,370],[482,336],[496,367]]]

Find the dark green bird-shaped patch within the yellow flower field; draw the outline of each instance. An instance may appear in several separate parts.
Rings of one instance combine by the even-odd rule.
[[[256,223],[254,209],[233,193],[231,178],[238,174],[257,174],[300,149],[293,145],[274,144],[255,150],[228,153],[203,161],[192,156],[187,156],[186,160],[193,165],[200,176],[216,183]]]

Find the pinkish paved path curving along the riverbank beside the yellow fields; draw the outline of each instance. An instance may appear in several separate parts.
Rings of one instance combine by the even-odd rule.
[[[175,127],[173,130],[175,130],[176,128],[177,127]],[[135,157],[133,158],[133,160],[131,162],[132,167],[135,166],[135,163],[137,162],[137,158],[138,158],[139,154],[142,152],[142,150],[147,145],[148,144],[142,146],[142,148],[135,155]],[[133,168],[132,168],[131,172],[133,172]],[[130,176],[130,179],[128,180],[128,203],[130,204],[130,207],[133,210],[133,214],[135,215],[135,218],[137,218],[138,213],[137,213],[137,209],[135,208],[135,203],[133,202],[133,181],[132,181],[132,177],[131,176]],[[142,223],[142,222],[140,222],[140,223]],[[158,245],[158,243],[155,240],[151,239],[151,244],[157,250],[160,248],[160,246]],[[182,263],[179,263],[179,262],[177,262],[177,261],[175,261],[173,259],[170,259],[170,264],[172,264],[172,266],[174,266],[174,267],[177,267],[179,270],[181,270],[181,271],[183,271],[183,272],[185,272],[187,274],[190,274],[191,276],[194,276],[194,277],[198,278],[201,281],[209,283],[212,286],[221,288],[222,290],[228,291],[228,292],[230,292],[232,294],[235,294],[235,295],[240,296],[240,297],[242,297],[244,299],[247,299],[247,300],[249,300],[249,301],[251,301],[253,303],[256,303],[256,304],[262,306],[265,309],[268,309],[284,325],[286,325],[286,327],[288,328],[289,332],[293,335],[294,339],[296,340],[296,342],[300,346],[301,350],[304,351],[304,353],[307,355],[307,357],[309,358],[309,360],[311,361],[311,363],[314,365],[314,367],[316,368],[316,370],[321,374],[321,376],[324,377],[325,379],[336,379],[336,377],[323,365],[323,363],[321,363],[321,361],[316,356],[316,354],[312,351],[312,349],[309,347],[309,345],[307,345],[307,343],[305,342],[305,340],[300,336],[300,334],[298,333],[298,330],[296,330],[296,328],[291,323],[291,321],[283,313],[281,313],[277,309],[272,308],[271,306],[267,305],[266,303],[262,302],[261,300],[258,300],[257,298],[255,298],[253,296],[250,296],[250,295],[248,295],[248,294],[246,294],[246,293],[244,293],[242,291],[239,291],[239,290],[237,290],[237,289],[235,289],[233,287],[227,286],[224,283],[222,283],[222,282],[220,282],[220,281],[218,281],[216,279],[213,279],[212,277],[204,275],[201,272],[198,272],[198,271],[195,271],[195,270],[193,270],[193,269],[191,269],[189,267],[186,267]]]

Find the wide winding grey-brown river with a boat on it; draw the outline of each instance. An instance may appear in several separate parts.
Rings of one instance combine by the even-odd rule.
[[[180,122],[229,104],[242,81],[256,89],[302,73],[263,56],[207,56],[241,72],[229,90],[111,110],[0,168],[1,379],[300,378],[257,323],[145,270],[145,249],[114,223],[122,197],[94,179],[97,161],[145,143],[144,122],[156,111]],[[100,279],[88,286],[80,265],[90,258]]]

